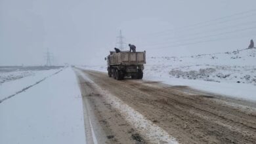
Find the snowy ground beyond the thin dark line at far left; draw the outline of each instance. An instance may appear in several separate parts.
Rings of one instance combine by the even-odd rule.
[[[0,84],[0,100],[7,98],[12,94],[15,94],[16,92],[22,90],[23,88],[26,88],[27,86],[30,86],[35,82],[40,81],[41,79],[44,79],[45,77],[53,75],[59,70],[60,69],[37,71],[33,75]]]

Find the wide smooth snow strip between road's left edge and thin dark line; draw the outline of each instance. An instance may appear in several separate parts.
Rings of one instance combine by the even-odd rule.
[[[0,143],[85,143],[81,92],[71,68],[0,103]]]

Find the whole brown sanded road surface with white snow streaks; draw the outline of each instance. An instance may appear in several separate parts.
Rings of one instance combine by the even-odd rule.
[[[131,79],[116,81],[106,73],[74,70],[83,98],[87,142],[256,141],[255,103],[186,86]]]

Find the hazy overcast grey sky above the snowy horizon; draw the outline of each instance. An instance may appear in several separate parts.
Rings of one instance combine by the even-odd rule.
[[[246,48],[256,39],[255,6],[255,0],[0,0],[0,65],[43,65],[47,48],[54,63],[102,64],[119,29],[125,43],[148,56]]]

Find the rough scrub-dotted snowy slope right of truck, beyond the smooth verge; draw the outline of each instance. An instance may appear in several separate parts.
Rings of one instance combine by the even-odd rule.
[[[256,86],[256,48],[183,57],[148,58],[145,74]]]

